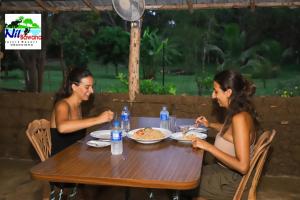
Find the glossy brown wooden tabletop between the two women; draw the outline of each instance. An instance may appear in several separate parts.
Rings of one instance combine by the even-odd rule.
[[[177,125],[193,119],[177,119]],[[159,127],[159,118],[132,117],[131,128]],[[101,127],[108,128],[107,126]],[[154,144],[123,139],[123,154],[112,155],[110,146],[86,144],[89,134],[31,169],[34,179],[50,182],[187,190],[201,175],[203,150],[171,138]]]

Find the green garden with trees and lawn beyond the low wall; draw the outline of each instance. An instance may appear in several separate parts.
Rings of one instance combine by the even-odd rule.
[[[97,92],[127,92],[129,25],[114,12],[48,15],[36,88],[56,91],[70,68],[88,66]],[[300,94],[299,9],[146,11],[141,38],[142,93],[209,95],[213,74],[233,68],[256,83],[258,95]],[[0,87],[29,90],[34,77],[16,52],[4,53]]]

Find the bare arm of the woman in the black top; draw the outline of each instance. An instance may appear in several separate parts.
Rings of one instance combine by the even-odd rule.
[[[113,119],[113,112],[105,111],[98,116],[86,119],[69,119],[69,105],[65,101],[55,106],[55,124],[60,133],[70,133],[80,129],[88,128],[97,124],[109,122]]]

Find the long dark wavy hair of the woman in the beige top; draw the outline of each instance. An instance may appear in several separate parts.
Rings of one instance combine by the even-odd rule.
[[[233,70],[224,70],[216,74],[214,81],[220,85],[223,91],[232,90],[221,134],[224,134],[228,130],[232,122],[232,117],[243,111],[251,115],[255,130],[258,131],[260,129],[258,115],[251,101],[251,97],[256,90],[255,85]]]

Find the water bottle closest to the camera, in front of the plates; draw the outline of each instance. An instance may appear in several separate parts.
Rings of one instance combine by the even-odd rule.
[[[113,122],[110,134],[110,147],[112,155],[120,155],[123,153],[122,130],[118,120]]]

